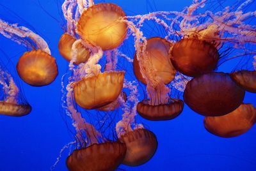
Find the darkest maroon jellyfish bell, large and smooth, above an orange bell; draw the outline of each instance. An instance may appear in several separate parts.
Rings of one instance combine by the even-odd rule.
[[[235,110],[244,99],[244,90],[227,73],[207,73],[188,82],[185,103],[196,113],[207,116],[225,115]]]

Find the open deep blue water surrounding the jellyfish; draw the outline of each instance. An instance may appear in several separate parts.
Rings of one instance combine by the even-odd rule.
[[[0,170],[49,170],[63,145],[74,140],[68,131],[70,122],[61,114],[61,76],[67,71],[67,61],[58,52],[61,29],[61,1],[58,0],[1,0],[1,19],[18,22],[39,33],[56,57],[59,75],[52,84],[31,87],[22,82],[24,94],[33,110],[24,117],[0,115]],[[97,2],[97,1],[96,1]],[[153,10],[182,10],[190,0],[118,0],[127,15],[143,14]],[[234,3],[230,2],[229,4]],[[8,8],[8,9],[7,9]],[[221,6],[219,6],[221,8]],[[251,8],[256,10],[255,6]],[[52,17],[56,18],[53,19]],[[255,23],[254,23],[255,24]],[[15,67],[26,48],[0,36],[0,48]],[[256,48],[256,47],[255,47]],[[2,55],[2,54],[1,54]],[[233,63],[222,66],[225,70]],[[132,70],[132,68],[126,68]],[[256,107],[256,94],[246,93],[245,103]],[[220,138],[208,133],[204,117],[188,106],[172,121],[151,122],[139,118],[157,135],[158,149],[152,160],[140,167],[124,170],[256,170],[256,127],[235,138]],[[68,119],[67,119],[68,120]],[[55,170],[67,170],[63,153]]]

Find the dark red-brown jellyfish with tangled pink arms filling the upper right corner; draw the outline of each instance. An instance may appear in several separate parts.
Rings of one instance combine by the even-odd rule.
[[[206,1],[195,1],[182,11],[184,15],[178,14],[171,24],[173,29],[179,26],[175,33],[181,37],[170,48],[175,69],[189,77],[210,73],[218,68],[231,48],[246,49],[245,45],[255,43],[255,29],[246,22],[255,16],[255,11],[241,11],[249,3],[242,4],[236,11],[227,7],[216,13],[209,10],[201,13],[196,10],[204,7]],[[241,53],[255,54],[255,50]]]

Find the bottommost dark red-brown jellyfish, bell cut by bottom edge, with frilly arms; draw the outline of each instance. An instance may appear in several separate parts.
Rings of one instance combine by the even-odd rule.
[[[115,170],[124,160],[125,144],[110,142],[95,129],[93,124],[87,123],[76,110],[73,97],[74,90],[70,87],[70,84],[67,85],[66,89],[66,96],[63,94],[65,96],[63,107],[73,120],[78,144],[77,149],[67,158],[68,170]]]

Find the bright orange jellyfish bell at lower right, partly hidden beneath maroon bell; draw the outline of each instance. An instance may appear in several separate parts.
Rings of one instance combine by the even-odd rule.
[[[227,115],[204,118],[207,131],[218,137],[230,138],[245,133],[256,122],[256,109],[252,104],[241,104]]]

